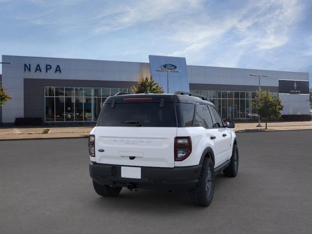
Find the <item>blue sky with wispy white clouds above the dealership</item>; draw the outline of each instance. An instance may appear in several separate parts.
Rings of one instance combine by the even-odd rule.
[[[312,74],[311,0],[0,0],[0,12],[0,55]]]

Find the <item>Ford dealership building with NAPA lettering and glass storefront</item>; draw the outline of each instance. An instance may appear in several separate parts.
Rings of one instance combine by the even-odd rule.
[[[97,121],[105,99],[131,93],[140,76],[153,76],[166,93],[205,96],[230,119],[255,117],[260,79],[262,90],[282,99],[281,114],[309,114],[309,73],[187,65],[185,58],[165,56],[149,56],[146,63],[2,55],[0,84],[12,99],[0,107],[0,125],[23,117]]]

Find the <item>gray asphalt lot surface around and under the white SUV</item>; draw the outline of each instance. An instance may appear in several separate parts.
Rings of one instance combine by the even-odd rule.
[[[87,139],[0,141],[0,234],[312,233],[312,130],[237,134],[235,178],[208,208],[187,194],[98,196]]]

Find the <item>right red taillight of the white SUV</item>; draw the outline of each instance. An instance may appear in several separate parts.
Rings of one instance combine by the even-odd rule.
[[[183,161],[192,152],[191,137],[175,138],[175,161]]]

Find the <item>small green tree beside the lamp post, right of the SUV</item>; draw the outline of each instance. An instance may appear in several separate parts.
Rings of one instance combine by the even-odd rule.
[[[260,116],[260,119],[265,118],[265,129],[267,129],[269,118],[279,118],[280,111],[283,110],[282,100],[273,96],[270,91],[257,91],[257,99],[253,103],[255,112]]]

